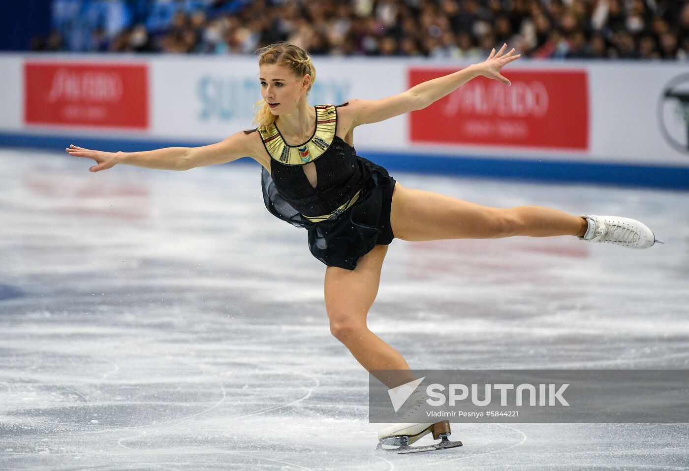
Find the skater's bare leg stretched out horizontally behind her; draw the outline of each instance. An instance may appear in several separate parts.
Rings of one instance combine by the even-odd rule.
[[[484,239],[512,235],[583,236],[586,219],[540,206],[509,209],[475,205],[433,191],[402,187],[393,193],[390,221],[402,240]]]

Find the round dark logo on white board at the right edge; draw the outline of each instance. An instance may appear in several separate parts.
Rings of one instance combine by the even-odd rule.
[[[658,123],[668,144],[689,154],[689,74],[665,86],[658,102]]]

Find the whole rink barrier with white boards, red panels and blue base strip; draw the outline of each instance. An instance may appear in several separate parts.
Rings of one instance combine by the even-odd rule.
[[[467,65],[315,61],[312,105],[390,96]],[[0,145],[216,143],[254,127],[260,98],[254,56],[0,53],[0,70]],[[509,74],[511,87],[480,77],[424,109],[357,127],[356,148],[391,170],[689,187],[686,65],[525,59]]]

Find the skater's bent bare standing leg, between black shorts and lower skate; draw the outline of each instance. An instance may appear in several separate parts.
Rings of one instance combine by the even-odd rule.
[[[380,269],[387,249],[387,245],[376,245],[358,260],[354,270],[337,266],[329,266],[325,270],[325,309],[330,331],[369,371],[409,370],[402,355],[369,331],[366,323],[369,309],[378,294]],[[409,377],[402,377],[393,373],[378,379],[389,388],[415,379],[411,373]]]

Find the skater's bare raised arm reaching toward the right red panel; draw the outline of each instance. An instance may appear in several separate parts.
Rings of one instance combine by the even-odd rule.
[[[380,100],[350,100],[349,106],[345,109],[351,115],[352,127],[378,123],[400,114],[424,109],[480,75],[511,85],[510,81],[500,74],[500,70],[508,63],[519,59],[522,54],[515,55],[514,49],[504,54],[506,47],[507,45],[503,45],[497,52],[493,49],[488,59],[482,63],[469,65],[452,74],[420,83],[406,92]]]

